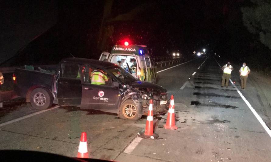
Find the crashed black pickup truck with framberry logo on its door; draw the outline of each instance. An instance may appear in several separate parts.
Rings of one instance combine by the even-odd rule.
[[[67,58],[54,70],[55,74],[17,68],[14,91],[36,109],[47,109],[55,103],[113,112],[122,119],[137,120],[147,114],[149,100],[153,99],[154,115],[166,110],[166,89],[140,81],[116,64]],[[94,72],[100,72],[107,80],[95,84],[92,81]]]

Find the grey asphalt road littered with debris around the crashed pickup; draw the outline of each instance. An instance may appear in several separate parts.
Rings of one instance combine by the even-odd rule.
[[[137,136],[145,127],[146,117],[129,121],[118,119],[116,114],[76,107],[40,113],[20,100],[10,102],[0,111],[0,150],[34,150],[75,157],[80,133],[85,131],[92,158],[270,161],[271,137],[233,85],[221,88],[221,75],[213,58],[193,60],[158,73],[158,84],[169,95],[174,94],[178,129],[164,129],[166,115],[161,115],[155,119],[157,140]],[[24,119],[34,112],[37,114]],[[6,124],[19,117],[23,118]]]

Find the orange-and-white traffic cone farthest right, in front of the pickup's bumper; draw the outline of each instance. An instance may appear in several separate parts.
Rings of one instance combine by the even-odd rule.
[[[165,129],[178,129],[177,126],[175,126],[175,113],[174,113],[174,98],[173,95],[171,95],[170,98],[170,105],[169,105],[169,109],[168,109],[168,113],[167,113],[167,122],[164,125]]]

